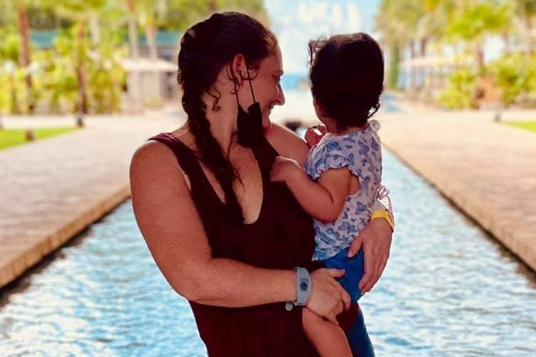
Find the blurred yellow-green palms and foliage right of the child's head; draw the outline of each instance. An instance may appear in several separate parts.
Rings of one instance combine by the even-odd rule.
[[[447,107],[471,107],[478,106],[481,83],[488,78],[504,105],[534,102],[535,21],[536,0],[382,0],[375,28],[390,53],[400,51],[400,61],[390,61],[391,87],[400,85],[403,62],[408,92],[429,95],[431,81],[419,76],[446,73],[435,99]],[[489,40],[503,43],[498,60],[486,58]],[[447,70],[412,65],[444,57],[452,62]]]

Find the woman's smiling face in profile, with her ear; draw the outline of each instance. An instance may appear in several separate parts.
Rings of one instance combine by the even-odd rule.
[[[254,75],[254,73],[252,74]],[[255,99],[259,102],[262,111],[262,126],[268,128],[270,125],[269,116],[272,112],[272,108],[276,105],[283,105],[285,103],[285,97],[283,89],[281,88],[280,79],[283,75],[283,64],[281,58],[281,51],[277,48],[277,53],[266,57],[259,64],[259,70],[257,76],[252,79],[253,92]],[[241,103],[247,103],[249,106],[252,104],[250,84],[245,80],[242,85],[241,97],[245,97],[245,101]],[[245,106],[245,107],[247,107]]]

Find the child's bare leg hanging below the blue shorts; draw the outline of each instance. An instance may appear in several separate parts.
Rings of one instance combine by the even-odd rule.
[[[322,357],[352,357],[343,329],[304,307],[304,330]]]

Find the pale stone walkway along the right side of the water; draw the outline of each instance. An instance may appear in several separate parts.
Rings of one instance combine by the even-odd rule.
[[[378,115],[385,147],[536,270],[536,133],[494,123],[493,111],[402,108]]]

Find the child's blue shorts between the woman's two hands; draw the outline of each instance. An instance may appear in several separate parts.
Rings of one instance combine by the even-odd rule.
[[[363,260],[363,251],[360,249],[355,256],[348,258],[348,248],[338,252],[335,256],[321,260],[326,268],[344,269],[346,272],[341,278],[337,278],[339,284],[350,295],[350,301],[355,303],[361,297],[361,290],[358,284],[365,274],[365,261]]]

